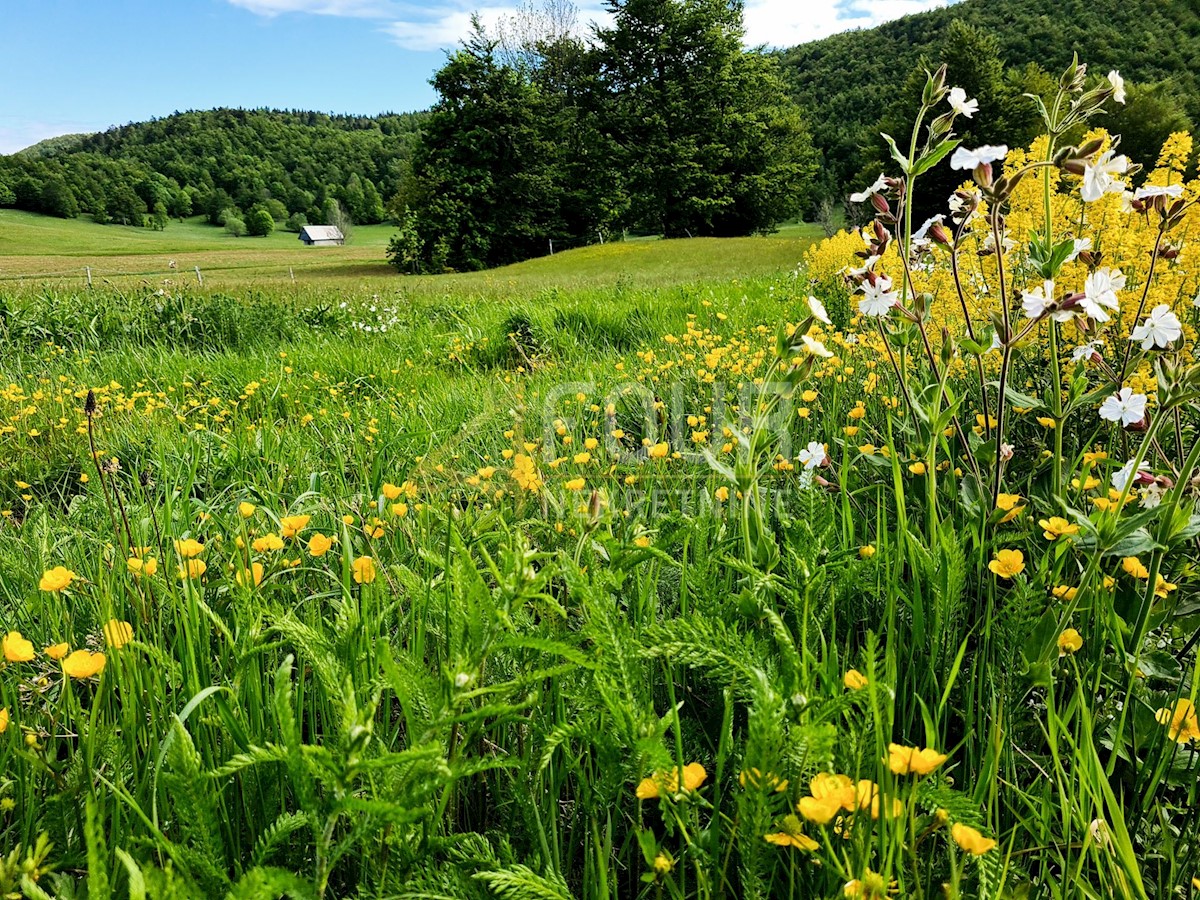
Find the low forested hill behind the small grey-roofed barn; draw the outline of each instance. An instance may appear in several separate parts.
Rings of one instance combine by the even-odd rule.
[[[257,209],[275,220],[385,217],[422,114],[354,116],[274,109],[175,113],[0,156],[0,206],[157,223]]]

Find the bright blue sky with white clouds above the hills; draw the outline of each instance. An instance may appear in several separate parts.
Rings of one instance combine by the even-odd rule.
[[[0,0],[0,154],[176,109],[421,109],[470,13],[496,22],[520,1]],[[947,1],[746,0],[746,40],[791,46]],[[602,16],[576,4],[582,23]]]

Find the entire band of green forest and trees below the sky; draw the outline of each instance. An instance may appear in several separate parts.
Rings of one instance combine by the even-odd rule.
[[[434,76],[425,113],[175,113],[0,156],[0,206],[234,233],[392,221],[406,271],[496,265],[626,230],[770,230],[835,216],[906,143],[925,68],[979,100],[967,144],[1031,140],[1026,94],[1073,52],[1117,68],[1129,102],[1102,124],[1152,163],[1200,121],[1195,0],[964,0],[784,52],[742,48],[742,5],[607,0],[580,40],[566,0],[478,29]],[[940,184],[937,179],[946,181]],[[926,179],[925,192],[952,186]]]

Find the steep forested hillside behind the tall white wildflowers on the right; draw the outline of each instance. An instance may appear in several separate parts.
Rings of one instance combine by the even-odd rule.
[[[1099,74],[1118,68],[1136,84],[1168,82],[1153,92],[1156,103],[1180,106],[1200,122],[1196,0],[962,0],[782,54],[814,144],[824,156],[833,182],[828,187],[844,187],[874,162],[876,124],[900,101],[923,56],[941,61],[954,22],[995,40],[1009,95],[1037,86],[1033,66],[1057,74],[1078,50]]]

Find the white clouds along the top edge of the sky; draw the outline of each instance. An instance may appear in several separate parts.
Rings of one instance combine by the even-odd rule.
[[[260,16],[289,12],[378,19],[392,41],[409,50],[449,48],[470,32],[472,13],[490,29],[516,11],[516,2],[479,0],[229,0]],[[746,0],[746,43],[792,47],[839,31],[872,28],[953,0]],[[578,0],[580,25],[606,19],[600,0]]]

